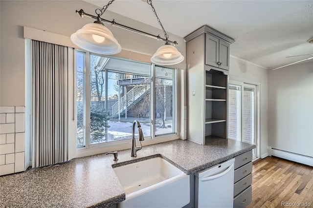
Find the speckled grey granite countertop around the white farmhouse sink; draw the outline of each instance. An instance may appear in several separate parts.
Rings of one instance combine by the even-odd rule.
[[[76,158],[67,163],[33,168],[0,176],[0,207],[109,207],[125,200],[125,192],[112,166],[163,157],[186,174],[192,174],[255,148],[229,139],[210,139],[205,146],[174,140],[143,146],[137,157],[130,149],[113,155]]]

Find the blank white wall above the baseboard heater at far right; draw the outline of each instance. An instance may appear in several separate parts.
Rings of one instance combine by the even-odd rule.
[[[313,157],[313,62],[268,72],[268,146]]]

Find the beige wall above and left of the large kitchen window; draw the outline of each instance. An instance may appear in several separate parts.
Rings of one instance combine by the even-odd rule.
[[[94,14],[95,6],[81,0],[0,0],[0,106],[25,105],[25,43],[23,26],[70,36],[90,18],[80,18],[75,10]],[[152,34],[160,29],[106,11],[107,20],[134,27]],[[163,42],[106,24],[123,50],[153,55]],[[186,46],[181,37],[169,34],[185,56]]]

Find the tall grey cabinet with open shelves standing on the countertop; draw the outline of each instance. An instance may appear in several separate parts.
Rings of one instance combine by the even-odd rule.
[[[234,40],[207,25],[184,39],[188,66],[187,139],[206,145],[213,138],[227,138],[229,47]]]

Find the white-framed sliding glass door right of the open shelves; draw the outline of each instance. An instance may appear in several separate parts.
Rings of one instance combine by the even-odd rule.
[[[229,81],[228,138],[256,145],[256,85]],[[253,157],[256,157],[253,149]]]

